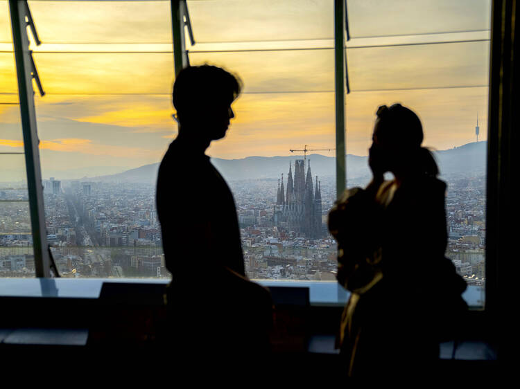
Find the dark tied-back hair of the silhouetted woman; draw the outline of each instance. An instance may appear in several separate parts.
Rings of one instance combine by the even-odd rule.
[[[403,160],[401,162],[406,162],[424,174],[439,174],[432,152],[421,146],[424,133],[421,120],[414,111],[400,104],[390,107],[381,105],[376,115],[379,118],[378,140],[399,150],[399,156]]]

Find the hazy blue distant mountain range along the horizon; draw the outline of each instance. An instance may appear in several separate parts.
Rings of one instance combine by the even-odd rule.
[[[434,151],[435,159],[442,176],[462,172],[485,172],[487,142],[474,142],[453,147],[453,149]],[[248,156],[243,159],[212,158],[211,162],[228,181],[247,179],[277,179],[287,175],[289,161],[302,159],[302,156]],[[333,176],[336,171],[336,158],[320,154],[310,154],[313,176]],[[357,179],[370,174],[367,156],[347,154],[347,177]],[[92,177],[88,181],[142,182],[154,183],[159,163],[144,165],[126,170],[119,174]],[[293,168],[294,172],[294,168]]]

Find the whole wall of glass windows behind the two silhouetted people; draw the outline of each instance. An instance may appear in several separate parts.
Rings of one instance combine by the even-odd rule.
[[[43,42],[31,47],[47,93],[35,102],[46,224],[60,271],[168,278],[155,178],[176,134],[170,1],[29,3]],[[333,1],[187,3],[197,42],[186,42],[191,64],[223,66],[244,84],[227,137],[208,154],[234,192],[248,275],[335,282],[336,244],[326,228],[336,197]],[[490,1],[421,0],[410,8],[349,0],[347,7],[348,186],[370,179],[376,107],[415,109],[449,185],[447,255],[483,303],[486,132],[478,129],[487,127]],[[0,150],[16,152],[10,39],[9,28],[0,29]],[[302,199],[306,187],[311,203]],[[3,191],[6,199],[16,190],[24,188]]]

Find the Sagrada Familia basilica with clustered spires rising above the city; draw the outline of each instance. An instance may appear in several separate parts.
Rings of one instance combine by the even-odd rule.
[[[305,237],[322,237],[322,195],[321,183],[316,176],[315,187],[311,174],[311,161],[305,174],[305,160],[297,159],[294,167],[289,163],[287,190],[284,188],[284,174],[278,180],[278,194],[273,213],[275,226],[303,233]]]

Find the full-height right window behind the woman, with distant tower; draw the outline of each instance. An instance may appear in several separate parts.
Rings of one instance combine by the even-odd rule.
[[[370,181],[367,150],[377,107],[400,102],[416,111],[423,145],[433,150],[448,186],[447,256],[469,284],[466,300],[481,307],[491,4],[419,3],[347,1],[348,186]]]

